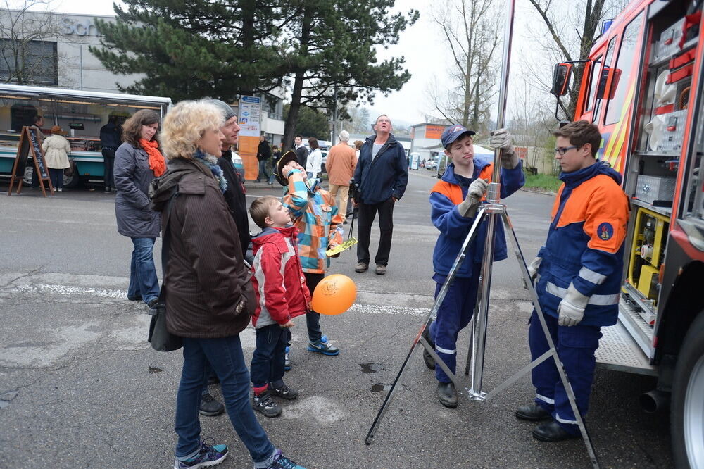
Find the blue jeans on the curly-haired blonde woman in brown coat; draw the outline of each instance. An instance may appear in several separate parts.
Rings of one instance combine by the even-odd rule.
[[[255,467],[266,467],[265,463],[272,458],[275,448],[249,403],[249,372],[239,335],[183,339],[183,371],[176,396],[176,457],[195,456],[201,447],[198,411],[208,362],[220,379],[222,397],[234,431],[249,450]]]

